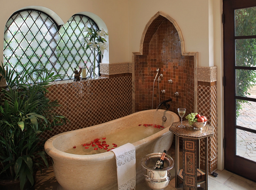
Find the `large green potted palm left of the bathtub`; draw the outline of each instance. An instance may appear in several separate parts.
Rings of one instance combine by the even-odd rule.
[[[5,71],[3,64],[0,74],[0,80],[4,78],[7,84],[0,95],[0,189],[5,188],[1,182],[9,180],[12,184],[18,181],[21,190],[31,189],[36,171],[48,167],[44,152],[46,139],[42,134],[67,121],[56,114],[58,102],[46,97],[50,82],[59,76],[45,69],[17,74],[12,69]],[[31,75],[37,79],[28,84],[25,81]]]

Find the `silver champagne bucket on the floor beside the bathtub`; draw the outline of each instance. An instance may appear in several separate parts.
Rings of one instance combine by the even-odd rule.
[[[164,169],[154,170],[153,167],[156,161],[160,159],[162,153],[151,153],[146,155],[141,160],[141,165],[147,170],[147,174],[144,174],[147,185],[153,190],[163,190],[168,186],[174,162],[172,157],[165,155],[164,157]]]

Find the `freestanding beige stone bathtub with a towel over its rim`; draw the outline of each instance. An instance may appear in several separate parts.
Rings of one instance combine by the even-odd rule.
[[[162,120],[163,116],[166,117],[166,121]],[[44,149],[52,157],[53,171],[60,184],[59,189],[117,190],[116,160],[112,151],[93,155],[76,155],[65,151],[72,149],[76,144],[91,142],[93,139],[114,134],[116,131],[130,126],[155,122],[155,124],[163,126],[164,129],[132,143],[136,148],[136,183],[140,182],[144,179],[145,172],[141,166],[141,159],[150,153],[170,149],[173,133],[169,131],[169,127],[176,121],[180,121],[176,113],[162,109],[146,110],[100,125],[53,136],[46,141]],[[126,134],[124,138],[131,135],[134,134]]]

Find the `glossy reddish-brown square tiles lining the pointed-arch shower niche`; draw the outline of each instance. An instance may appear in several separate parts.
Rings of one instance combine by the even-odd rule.
[[[135,67],[135,112],[152,108],[152,96],[154,86],[153,108],[159,102],[172,98],[169,104],[175,113],[177,108],[186,107],[188,112],[193,112],[195,68],[194,56],[182,56],[180,38],[173,24],[162,16],[156,18],[145,34],[143,55],[134,55]],[[158,77],[155,85],[156,69],[163,79],[159,82],[160,101],[158,95]],[[168,80],[172,79],[172,84]],[[161,91],[165,90],[162,94]],[[179,92],[179,96],[174,93]],[[162,109],[164,106],[161,107]]]

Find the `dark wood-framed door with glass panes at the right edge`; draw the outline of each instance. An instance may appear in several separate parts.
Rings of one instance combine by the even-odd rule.
[[[256,181],[256,1],[223,0],[225,168]]]

